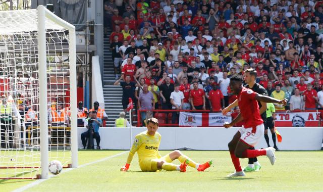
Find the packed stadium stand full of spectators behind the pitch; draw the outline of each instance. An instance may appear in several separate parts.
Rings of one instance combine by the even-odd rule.
[[[253,68],[257,71],[257,83],[267,88],[268,82],[272,82],[269,84],[273,84],[273,88],[267,89],[272,97],[290,99],[297,87],[303,95],[304,109],[322,109],[322,1],[127,2],[121,7],[114,1],[104,2],[105,19],[112,20],[112,25],[105,26],[104,39],[103,78],[108,126],[113,126],[122,110],[122,88],[111,85],[122,74],[130,74],[132,81],[138,84],[144,79],[150,85],[150,79],[154,79],[159,86],[158,109],[172,110],[168,101],[173,89],[166,77],[171,77],[171,84],[183,84],[183,74],[177,78],[183,73],[183,67],[188,67],[184,76],[189,83],[196,78],[206,95],[213,85],[209,84],[209,77],[213,77],[225,95],[226,106],[232,99],[221,86],[223,72],[228,72],[230,78]],[[124,61],[128,57],[132,59],[130,66]],[[139,69],[143,57],[146,67]],[[177,61],[179,67],[174,64]],[[129,70],[131,65],[139,72]],[[148,76],[147,71],[150,71]],[[289,80],[290,85],[285,85],[285,80]],[[187,100],[189,93],[185,91]],[[216,101],[219,97],[212,98],[215,98],[212,102],[221,102]],[[207,99],[205,103],[208,111]],[[289,106],[276,109],[289,112]],[[171,116],[163,112],[154,113],[154,117],[160,122],[171,120]]]

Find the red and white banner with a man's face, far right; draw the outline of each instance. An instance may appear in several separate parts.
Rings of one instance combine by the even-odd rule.
[[[317,127],[320,112],[276,113],[276,127]]]

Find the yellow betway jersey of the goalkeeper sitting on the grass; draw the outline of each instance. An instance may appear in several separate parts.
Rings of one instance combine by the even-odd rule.
[[[138,153],[139,163],[144,159],[158,159],[160,154],[158,148],[160,145],[161,135],[156,132],[155,135],[148,135],[143,131],[136,135],[132,148],[129,152],[127,163],[130,163],[135,153]]]

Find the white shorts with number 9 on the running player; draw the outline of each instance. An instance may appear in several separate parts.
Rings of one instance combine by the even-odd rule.
[[[247,143],[249,146],[254,147],[255,145],[257,145],[260,138],[263,137],[264,126],[263,124],[258,125],[254,133],[252,132],[252,127],[250,128],[241,127],[239,129],[239,132],[241,133],[240,139],[243,142]]]

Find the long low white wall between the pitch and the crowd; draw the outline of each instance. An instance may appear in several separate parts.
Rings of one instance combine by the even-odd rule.
[[[228,142],[238,131],[239,127],[160,127],[161,134],[159,150],[228,150]],[[320,150],[323,140],[323,128],[318,127],[279,127],[278,131],[282,135],[282,142],[278,143],[280,150]],[[81,133],[86,131],[84,127],[78,128],[78,147],[83,149]],[[144,127],[133,127],[132,138],[136,134],[145,131]],[[101,136],[101,149],[129,150],[130,128],[110,128],[99,129]],[[271,135],[271,133],[268,133]],[[271,138],[271,136],[270,136]],[[271,146],[273,146],[270,139]],[[96,143],[96,142],[94,142]],[[264,138],[260,140],[256,149],[266,148]]]

